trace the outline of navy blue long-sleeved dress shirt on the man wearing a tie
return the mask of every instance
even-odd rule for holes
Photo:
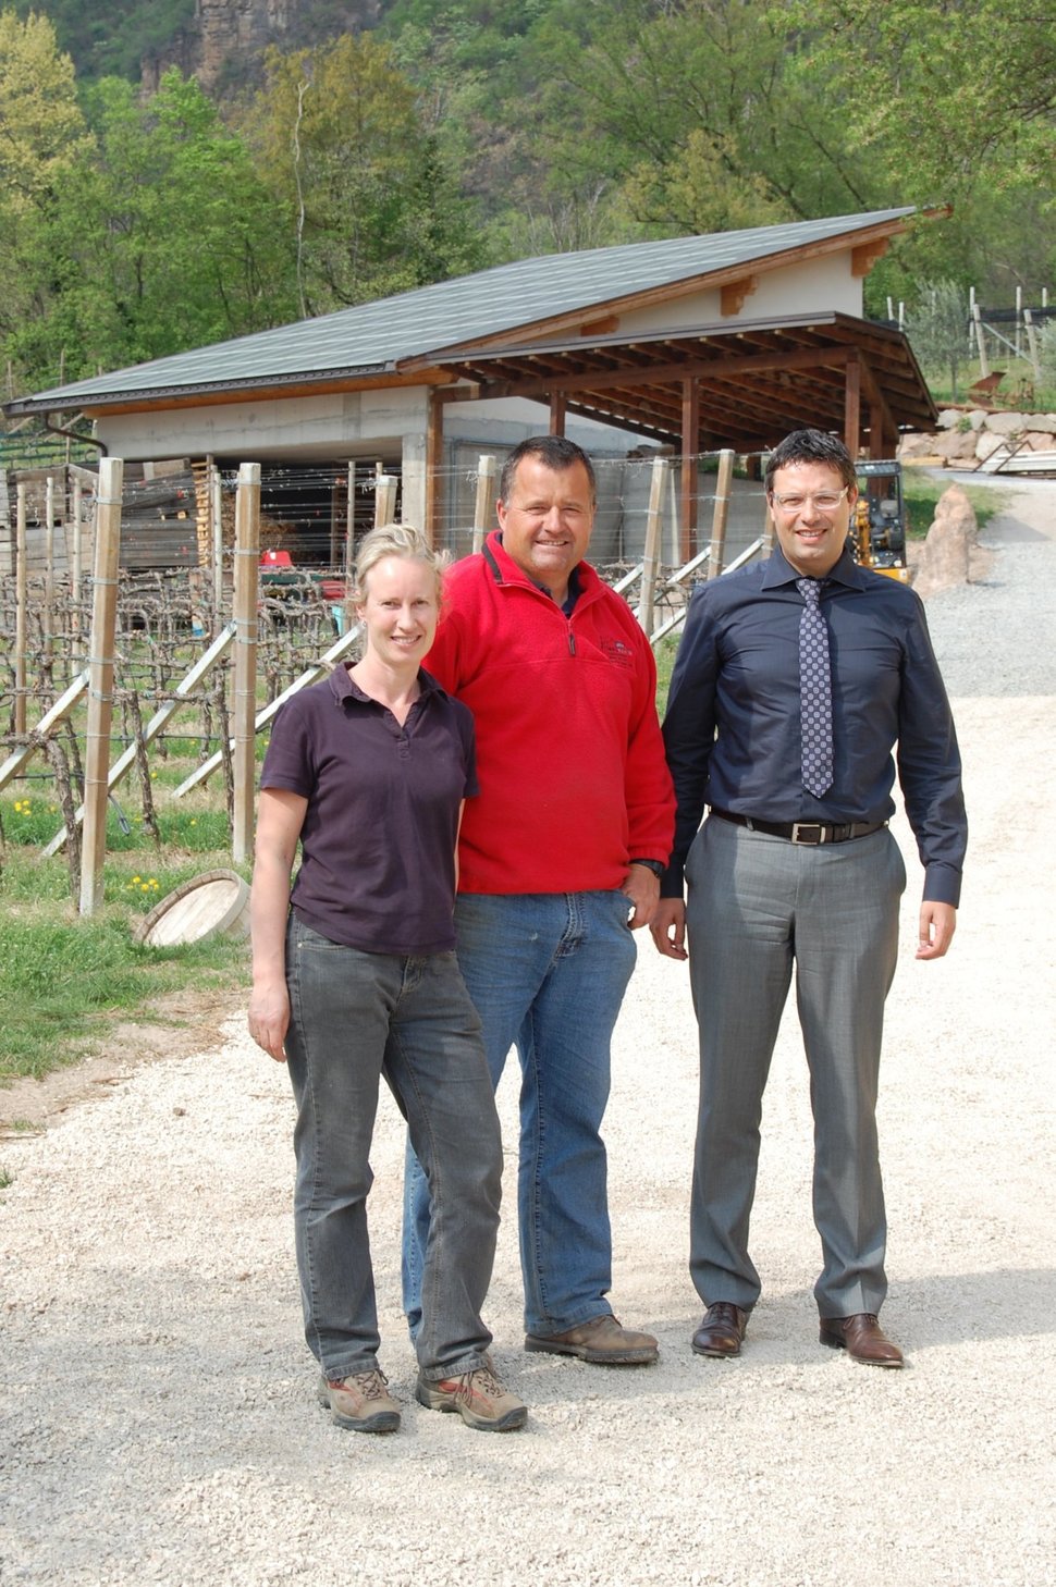
[[[897,755],[924,898],[956,905],[967,846],[961,755],[924,606],[848,551],[824,579],[835,768],[815,798],[800,773],[797,578],[778,549],[700,586],[689,603],[664,720],[678,814],[661,893],[681,897],[705,805],[757,820],[883,822],[896,808]]]

